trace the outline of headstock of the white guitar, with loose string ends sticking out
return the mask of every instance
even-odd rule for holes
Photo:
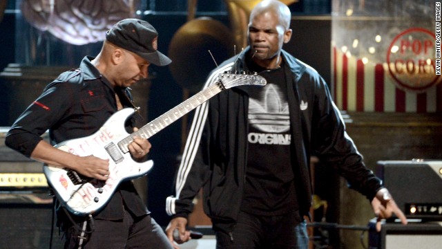
[[[265,86],[265,84],[267,84],[267,80],[256,73],[220,73],[218,77],[225,89],[229,89],[234,86]]]

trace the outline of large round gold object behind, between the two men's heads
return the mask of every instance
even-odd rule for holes
[[[173,35],[168,56],[175,82],[191,92],[200,91],[210,71],[233,56],[231,31],[209,17],[193,19]]]

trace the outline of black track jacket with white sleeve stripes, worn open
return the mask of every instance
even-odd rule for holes
[[[206,86],[218,80],[218,73],[247,72],[244,54],[248,51],[249,47],[239,58],[232,57],[216,68]],[[354,190],[373,199],[382,187],[381,180],[365,167],[363,157],[345,131],[327,84],[314,68],[285,50],[282,57],[289,68],[285,75],[294,162],[291,167],[301,216],[308,215],[311,206],[311,154],[345,177]],[[222,91],[196,109],[175,179],[175,196],[166,199],[169,215],[186,217],[193,210],[195,195],[204,187],[204,212],[214,225],[230,232],[240,211],[247,167],[249,87],[254,86]]]

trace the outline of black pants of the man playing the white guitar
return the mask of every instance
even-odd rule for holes
[[[79,223],[80,227],[84,224]],[[86,234],[87,239],[81,239],[82,234],[76,232],[74,227],[66,231],[65,249],[172,249],[172,245],[166,234],[150,215],[133,218],[129,212],[125,212],[122,221],[94,220],[94,230]],[[85,227],[90,229],[90,221]],[[79,246],[81,243],[81,246]]]

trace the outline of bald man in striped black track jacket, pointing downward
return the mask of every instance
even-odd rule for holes
[[[312,154],[367,196],[380,219],[394,212],[406,223],[381,180],[365,167],[326,82],[282,49],[292,36],[290,20],[280,1],[258,3],[250,15],[249,46],[209,76],[215,81],[222,71],[258,72],[267,85],[228,89],[197,109],[175,196],[166,200],[173,217],[166,228],[170,241],[175,229],[177,243],[189,240],[187,217],[203,187],[218,249],[307,249]]]

